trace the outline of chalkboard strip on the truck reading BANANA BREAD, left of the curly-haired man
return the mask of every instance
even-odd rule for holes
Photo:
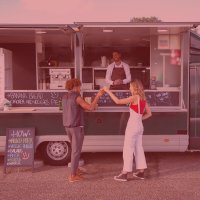
[[[13,107],[58,107],[64,92],[6,92]]]

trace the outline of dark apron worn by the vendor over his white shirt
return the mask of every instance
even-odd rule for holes
[[[122,65],[122,68],[116,68],[114,65],[112,75],[111,75],[111,80],[124,80],[126,79],[126,74],[124,71],[124,67]],[[122,84],[122,85],[110,85],[110,90],[128,90],[128,84]]]

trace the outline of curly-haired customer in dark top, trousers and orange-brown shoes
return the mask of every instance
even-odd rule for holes
[[[79,79],[68,80],[65,89],[68,90],[68,92],[62,98],[63,126],[65,127],[72,146],[71,175],[69,181],[74,182],[84,178],[83,176],[78,176],[83,173],[83,171],[78,168],[84,139],[83,109],[94,110],[99,97],[102,96],[104,92],[99,91],[94,101],[88,104],[80,96],[81,81]]]

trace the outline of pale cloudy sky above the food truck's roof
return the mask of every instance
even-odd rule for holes
[[[164,22],[200,22],[200,0],[0,0],[0,23],[129,22],[156,16]]]

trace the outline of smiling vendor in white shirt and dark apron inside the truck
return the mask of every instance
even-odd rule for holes
[[[129,65],[121,61],[119,51],[113,51],[114,62],[108,66],[106,82],[110,84],[110,90],[128,90],[131,82]]]

